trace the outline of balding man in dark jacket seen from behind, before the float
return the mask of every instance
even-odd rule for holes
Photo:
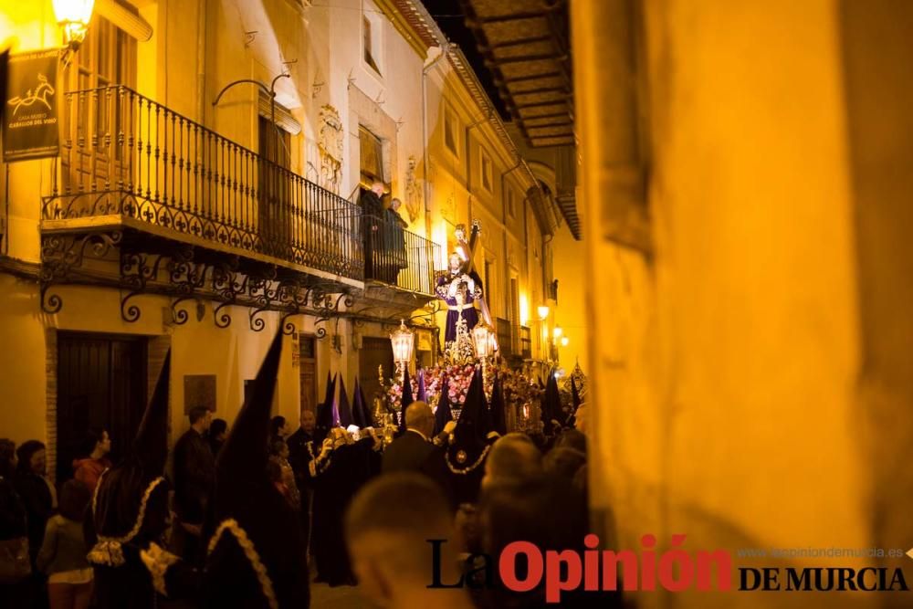
[[[405,409],[406,432],[383,451],[381,472],[412,471],[434,480],[447,498],[452,498],[444,449],[435,446],[431,436],[435,415],[425,402],[413,402]]]

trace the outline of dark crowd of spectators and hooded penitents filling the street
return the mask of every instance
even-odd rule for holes
[[[584,405],[548,433],[507,433],[478,372],[456,421],[446,399],[415,401],[378,429],[357,386],[350,406],[333,380],[292,431],[269,413],[280,349],[230,431],[192,408],[170,454],[166,359],[131,454],[110,463],[93,431],[59,493],[41,443],[0,440],[0,606],[307,607],[312,579],[390,607],[544,604],[476,562],[511,541],[582,550],[586,438],[567,422],[582,427]],[[428,587],[436,577],[462,585]]]

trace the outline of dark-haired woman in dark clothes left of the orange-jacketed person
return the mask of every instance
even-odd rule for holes
[[[23,442],[16,449],[18,466],[13,486],[23,505],[26,506],[26,519],[28,522],[28,552],[35,568],[35,559],[41,542],[45,539],[45,525],[47,519],[54,511],[56,492],[52,492],[51,484],[45,478],[46,452],[45,445],[37,440]]]

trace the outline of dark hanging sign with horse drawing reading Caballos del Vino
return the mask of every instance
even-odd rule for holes
[[[57,156],[58,49],[11,55],[3,109],[3,160]]]

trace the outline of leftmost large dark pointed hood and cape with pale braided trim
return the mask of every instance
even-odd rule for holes
[[[133,438],[130,456],[106,470],[92,499],[92,526],[98,542],[89,550],[92,564],[119,567],[125,547],[158,540],[167,528],[168,389],[171,352],[165,354],[152,399]]]

